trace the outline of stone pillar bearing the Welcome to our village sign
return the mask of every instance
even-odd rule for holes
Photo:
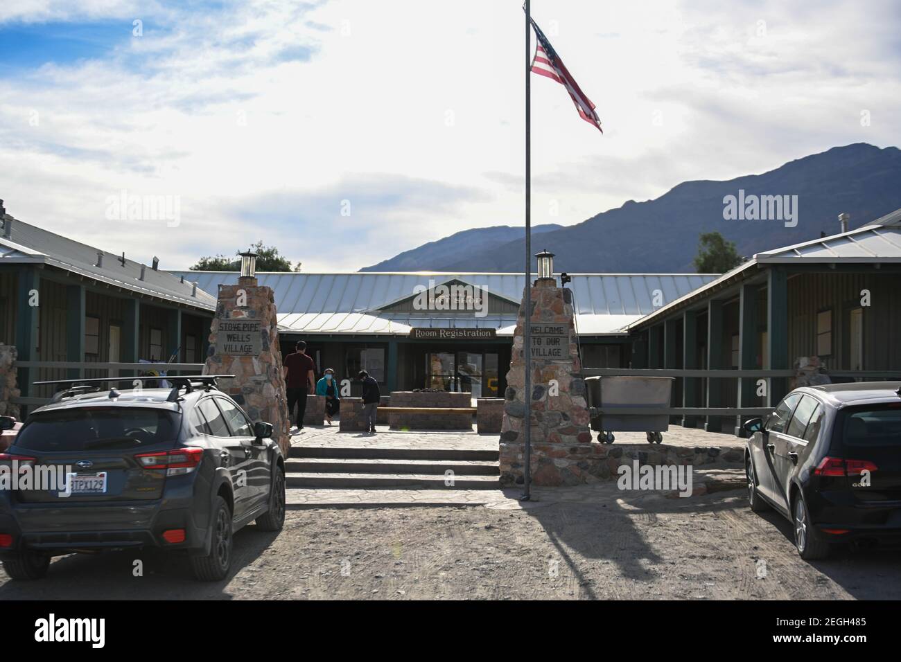
[[[557,286],[529,287],[532,314],[532,482],[577,485],[600,476],[605,467],[601,444],[591,440],[585,382],[578,358],[572,293]],[[523,296],[524,302],[525,296]],[[525,358],[523,305],[514,331],[507,373],[500,470],[503,485],[523,483]],[[604,465],[604,469],[602,469]]]

